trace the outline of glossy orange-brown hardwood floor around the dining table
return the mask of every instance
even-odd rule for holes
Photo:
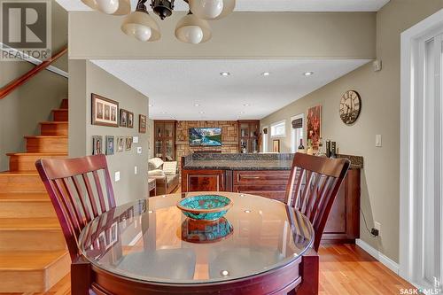
[[[414,288],[357,245],[322,245],[319,252],[319,295],[399,295],[400,288]],[[46,293],[0,293],[43,294],[70,294],[69,276]]]

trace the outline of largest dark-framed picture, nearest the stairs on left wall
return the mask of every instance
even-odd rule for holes
[[[91,103],[92,125],[119,127],[117,120],[118,102],[92,93]]]

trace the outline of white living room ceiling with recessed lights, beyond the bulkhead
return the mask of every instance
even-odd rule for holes
[[[261,119],[369,60],[92,60],[150,97],[150,118]],[[303,73],[315,74],[306,77]],[[229,72],[230,76],[221,76]],[[262,73],[270,72],[263,76]],[[198,106],[195,106],[198,104]]]

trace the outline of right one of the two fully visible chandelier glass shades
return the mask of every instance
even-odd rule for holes
[[[180,19],[175,27],[175,37],[184,43],[205,43],[211,39],[212,34],[207,21],[198,19],[192,13]]]

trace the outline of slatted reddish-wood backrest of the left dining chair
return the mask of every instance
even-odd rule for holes
[[[35,167],[48,190],[74,261],[79,257],[77,241],[82,229],[99,214],[115,207],[105,155],[39,159]]]

